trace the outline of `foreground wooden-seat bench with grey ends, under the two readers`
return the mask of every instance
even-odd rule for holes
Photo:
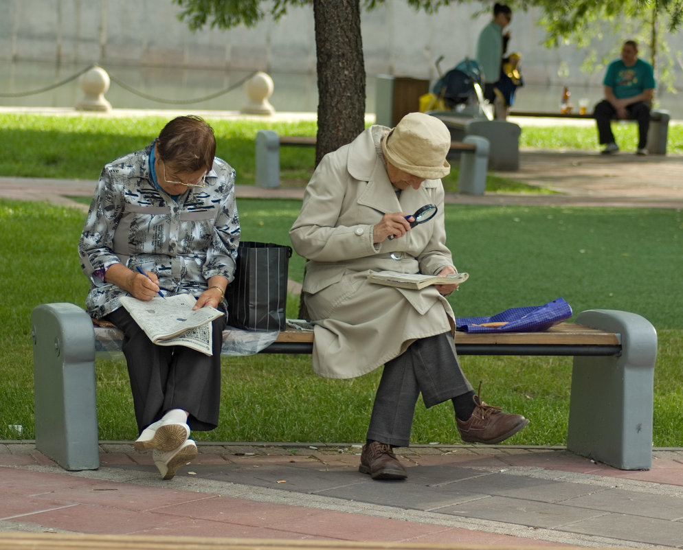
[[[73,303],[32,312],[36,448],[66,470],[100,465],[95,358],[103,333]],[[652,461],[657,333],[647,319],[587,310],[544,332],[456,333],[460,355],[573,356],[568,450],[622,470]],[[313,332],[286,330],[261,353],[309,354]]]

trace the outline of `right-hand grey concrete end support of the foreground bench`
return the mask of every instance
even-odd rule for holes
[[[622,470],[649,470],[657,333],[623,311],[588,310],[576,323],[621,334],[622,353],[574,358],[567,448]]]

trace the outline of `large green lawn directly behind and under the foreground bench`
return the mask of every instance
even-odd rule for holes
[[[297,200],[240,200],[245,240],[287,244]],[[87,280],[76,243],[85,214],[43,203],[0,200],[0,439],[10,424],[34,437],[30,314],[46,302],[82,306]],[[680,211],[568,207],[446,206],[449,247],[470,279],[449,298],[459,316],[566,299],[574,312],[612,308],[642,314],[658,330],[654,445],[680,446],[683,424],[683,320]],[[301,281],[294,255],[290,275]],[[291,296],[289,317],[298,298]],[[310,356],[223,358],[220,426],[194,433],[211,441],[362,442],[379,369],[352,380],[311,371]],[[531,423],[511,444],[566,443],[571,359],[463,357],[484,400],[523,413]],[[100,439],[136,436],[123,360],[98,360]],[[458,443],[452,407],[418,404],[415,443]]]

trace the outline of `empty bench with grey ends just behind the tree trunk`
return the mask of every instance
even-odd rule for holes
[[[280,147],[313,147],[313,136],[278,135],[275,130],[256,133],[256,186],[280,187]],[[489,163],[489,141],[471,136],[463,141],[451,141],[451,151],[461,152],[458,191],[483,195],[486,190],[486,170]]]

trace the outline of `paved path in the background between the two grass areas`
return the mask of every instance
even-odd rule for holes
[[[637,157],[622,152],[524,150],[515,172],[495,172],[555,194],[451,193],[446,200],[473,205],[558,205],[683,208],[683,155]],[[74,205],[68,196],[92,196],[95,181],[0,177],[0,197]],[[238,198],[302,198],[302,189],[238,185]],[[82,205],[80,207],[84,208]]]

